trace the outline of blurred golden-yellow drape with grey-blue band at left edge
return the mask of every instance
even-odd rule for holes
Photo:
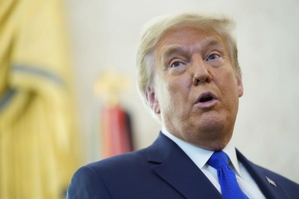
[[[0,0],[0,198],[60,199],[80,164],[61,0]]]

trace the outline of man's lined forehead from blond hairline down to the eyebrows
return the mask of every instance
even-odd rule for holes
[[[156,45],[156,55],[161,57],[177,50],[192,52],[216,45],[224,47],[224,42],[212,28],[203,30],[197,27],[178,27],[161,36]]]

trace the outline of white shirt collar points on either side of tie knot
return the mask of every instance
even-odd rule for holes
[[[162,127],[162,133],[168,138],[170,138],[173,142],[175,142],[187,154],[187,156],[190,157],[190,159],[196,164],[196,166],[198,166],[199,169],[202,169],[203,166],[205,166],[205,164],[210,159],[211,155],[214,153],[214,151],[209,151],[209,150],[199,148],[184,140],[179,139],[178,137],[169,133],[164,126]],[[232,138],[225,146],[225,148],[222,149],[222,151],[228,155],[237,173],[242,178],[239,164],[238,164],[236,149],[234,146],[234,141]]]

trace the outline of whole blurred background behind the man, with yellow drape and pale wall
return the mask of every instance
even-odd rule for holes
[[[135,85],[139,32],[184,11],[236,22],[236,147],[299,183],[299,1],[0,0],[0,198],[65,198],[86,163],[161,130]]]

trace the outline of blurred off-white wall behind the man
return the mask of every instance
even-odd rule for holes
[[[67,0],[73,42],[80,128],[86,163],[100,158],[97,147],[100,102],[96,75],[116,68],[135,82],[140,27],[162,14],[217,11],[236,21],[244,95],[234,130],[236,147],[252,160],[299,183],[299,1],[100,1]],[[150,145],[160,130],[146,113],[136,86],[123,95],[132,115],[135,146]]]

